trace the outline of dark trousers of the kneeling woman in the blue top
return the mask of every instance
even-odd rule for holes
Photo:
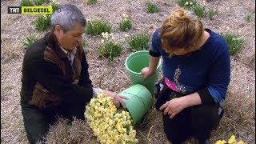
[[[156,84],[155,96],[157,102],[156,109],[159,110],[166,101],[172,98],[179,98],[186,94],[178,94],[166,85],[158,89],[159,83]],[[174,118],[170,115],[162,114],[164,132],[168,140],[174,144],[186,141],[186,138],[194,137],[199,141],[206,141],[210,138],[212,130],[218,127],[218,123],[223,115],[222,106],[219,103],[202,104],[198,106],[190,106],[176,114]]]

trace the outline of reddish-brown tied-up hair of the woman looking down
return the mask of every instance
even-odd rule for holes
[[[162,24],[160,38],[165,50],[193,49],[203,34],[202,22],[188,10],[177,8]]]

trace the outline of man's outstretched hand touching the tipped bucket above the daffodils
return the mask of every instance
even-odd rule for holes
[[[126,108],[126,105],[123,102],[123,99],[128,99],[128,98],[109,90],[103,90],[103,93],[106,94],[107,96],[110,96],[113,99],[114,106],[117,106],[117,108],[120,107],[120,104],[122,105],[123,108]]]

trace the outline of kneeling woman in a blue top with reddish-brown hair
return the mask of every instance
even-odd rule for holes
[[[154,32],[144,78],[154,73],[161,56],[163,78],[155,85],[155,106],[162,110],[166,137],[174,144],[189,137],[209,143],[230,82],[229,46],[194,14],[178,8]]]

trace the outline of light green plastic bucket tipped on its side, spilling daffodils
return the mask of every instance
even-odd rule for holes
[[[130,86],[128,89],[122,90],[119,94],[128,98],[124,102],[133,118],[134,125],[142,119],[153,105],[153,98],[150,91],[145,86],[139,84]]]

